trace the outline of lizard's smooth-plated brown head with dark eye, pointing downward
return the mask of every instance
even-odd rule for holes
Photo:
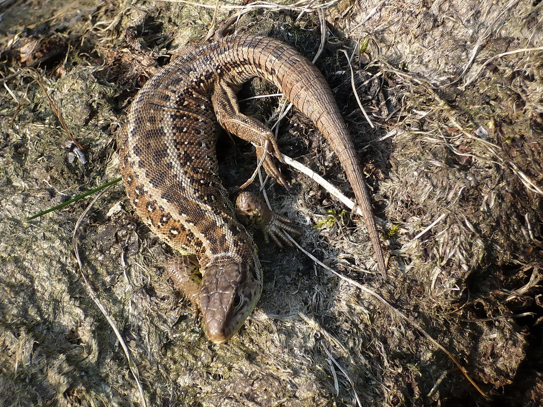
[[[202,273],[200,309],[208,338],[224,344],[243,325],[262,292],[258,260],[207,265]]]

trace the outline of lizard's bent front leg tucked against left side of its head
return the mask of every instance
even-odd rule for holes
[[[198,275],[199,265],[196,256],[179,256],[166,265],[175,286],[185,293],[191,302],[194,320],[198,319],[199,296],[202,279]]]

